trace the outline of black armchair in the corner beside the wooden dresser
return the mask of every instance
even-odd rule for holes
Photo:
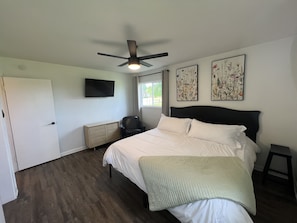
[[[138,116],[127,116],[122,119],[120,125],[121,135],[123,138],[132,136],[145,131]]]

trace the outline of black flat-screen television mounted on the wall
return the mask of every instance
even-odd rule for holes
[[[85,79],[85,97],[113,97],[114,81]]]

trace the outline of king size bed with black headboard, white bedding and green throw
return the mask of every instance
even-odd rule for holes
[[[112,166],[183,223],[252,222],[259,111],[171,107],[158,126],[111,144]],[[111,171],[111,169],[110,169]]]

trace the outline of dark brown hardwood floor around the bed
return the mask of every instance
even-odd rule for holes
[[[142,191],[121,174],[102,167],[104,148],[85,150],[16,174],[19,196],[4,205],[6,223],[178,223],[168,211],[143,207]],[[286,185],[255,172],[254,222],[297,222],[297,205]]]

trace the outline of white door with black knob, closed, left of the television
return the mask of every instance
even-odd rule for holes
[[[3,80],[19,170],[59,158],[51,81]]]

